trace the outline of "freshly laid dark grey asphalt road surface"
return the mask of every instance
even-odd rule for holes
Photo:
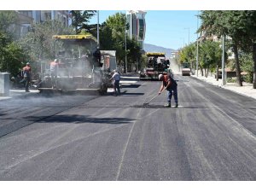
[[[143,106],[160,82],[132,77],[122,96],[1,101],[0,180],[255,181],[256,101],[175,78],[179,108]]]

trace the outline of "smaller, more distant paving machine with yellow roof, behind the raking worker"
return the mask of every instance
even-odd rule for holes
[[[148,52],[146,55],[147,66],[139,72],[139,79],[158,80],[160,74],[167,73],[170,61],[166,60],[165,53]]]

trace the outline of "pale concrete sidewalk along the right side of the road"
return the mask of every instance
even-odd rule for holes
[[[200,79],[202,81],[207,82],[208,84],[213,84],[218,87],[224,88],[226,90],[234,91],[243,96],[249,96],[249,97],[252,97],[253,99],[256,99],[256,89],[253,89],[253,84],[248,84],[248,83],[242,82],[243,86],[238,86],[236,83],[227,83],[227,84],[223,85],[222,79],[218,79],[218,81],[217,81],[212,76],[208,76],[206,78],[206,77],[201,76],[201,74],[199,74],[198,77],[196,77],[196,75],[191,75],[191,77]]]

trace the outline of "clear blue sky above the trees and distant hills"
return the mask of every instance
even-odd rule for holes
[[[109,15],[123,10],[100,10],[99,22],[108,19]],[[197,30],[197,10],[150,10],[146,14],[146,44],[154,44],[165,48],[178,49],[183,44],[195,42]],[[95,15],[90,23],[96,23]],[[198,21],[200,26],[200,20]]]

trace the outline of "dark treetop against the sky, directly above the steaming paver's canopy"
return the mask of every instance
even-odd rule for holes
[[[72,26],[74,27],[76,34],[81,32],[82,29],[91,33],[94,28],[95,31],[95,26],[90,26],[88,24],[90,18],[96,14],[95,10],[72,10],[70,13],[72,14]]]

